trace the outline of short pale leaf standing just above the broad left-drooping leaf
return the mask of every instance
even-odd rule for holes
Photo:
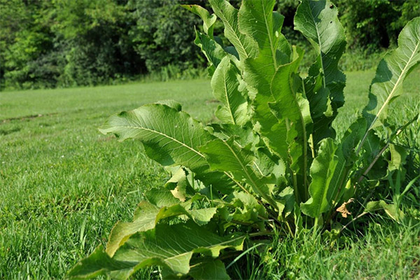
[[[214,97],[223,104],[216,111],[216,116],[223,123],[244,125],[248,121],[248,102],[239,91],[239,79],[236,66],[229,57],[223,58],[211,79]]]

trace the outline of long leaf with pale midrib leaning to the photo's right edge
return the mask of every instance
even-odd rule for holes
[[[363,111],[371,130],[386,118],[386,108],[402,92],[402,82],[407,74],[420,62],[420,17],[414,18],[398,36],[398,48],[388,52],[379,62],[376,76],[372,80],[369,103]],[[367,137],[363,137],[362,144]]]

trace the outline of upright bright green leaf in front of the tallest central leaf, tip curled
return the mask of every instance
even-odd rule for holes
[[[312,120],[309,102],[306,97],[297,92],[302,85],[301,79],[294,74],[302,59],[303,51],[293,47],[293,52],[297,58],[293,62],[279,66],[272,80],[271,92],[274,102],[269,102],[268,105],[277,119],[275,129],[261,123],[261,132],[267,132],[266,135],[274,131],[277,133],[279,139],[269,141],[269,147],[283,158],[288,159],[290,169],[297,181],[295,188],[299,187],[295,189],[297,202],[301,202],[307,199],[307,187],[309,186],[307,143]],[[280,140],[281,137],[283,137],[283,141]]]

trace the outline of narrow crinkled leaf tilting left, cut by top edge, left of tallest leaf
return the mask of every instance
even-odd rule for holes
[[[239,58],[242,60],[247,57],[254,57],[258,48],[252,38],[239,31],[238,10],[225,0],[210,0],[210,4],[214,13],[223,21],[225,37],[235,46]]]

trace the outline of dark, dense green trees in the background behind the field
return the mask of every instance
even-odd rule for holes
[[[239,6],[239,1],[231,2]],[[302,34],[293,30],[298,0],[276,2],[275,10],[286,17],[283,34],[309,52]],[[190,45],[194,34],[189,32],[201,27],[180,3],[208,5],[204,0],[0,0],[0,84],[95,85],[146,73],[163,72],[165,78],[201,69],[204,59]],[[334,3],[349,48],[358,54],[363,48],[360,57],[395,45],[399,31],[419,10],[416,0]],[[309,66],[307,57],[304,65]]]

